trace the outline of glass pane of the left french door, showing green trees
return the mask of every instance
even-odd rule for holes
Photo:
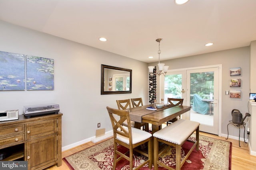
[[[164,77],[164,103],[167,98],[182,98],[182,74],[171,74]]]

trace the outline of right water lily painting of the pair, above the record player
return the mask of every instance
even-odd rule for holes
[[[54,59],[26,56],[27,90],[54,90]]]

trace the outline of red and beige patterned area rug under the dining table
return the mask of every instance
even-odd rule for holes
[[[190,137],[190,140],[196,141],[195,134]],[[190,142],[185,142],[182,145],[182,159],[191,145],[192,143]],[[118,147],[123,152],[127,151],[122,146]],[[112,170],[113,152],[114,145],[112,138],[67,156],[63,160],[71,170]],[[199,151],[195,149],[192,151],[182,166],[182,170],[231,170],[231,152],[232,143],[199,135]],[[135,166],[138,166],[146,159],[146,157],[137,153],[134,153],[133,158]],[[171,147],[168,152],[162,155],[160,160],[168,164],[168,166],[175,168],[175,147]],[[152,170],[154,169],[153,167]],[[117,162],[116,170],[128,169],[130,169],[129,162],[124,158]],[[148,164],[140,169],[148,170]],[[166,170],[162,166],[159,166],[158,169]]]

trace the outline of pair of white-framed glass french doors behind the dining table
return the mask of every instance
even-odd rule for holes
[[[219,127],[219,67],[187,68],[179,71],[169,70],[162,76],[160,96],[167,103],[167,98],[183,98],[183,105],[191,106],[190,112],[182,119],[198,121],[200,131],[218,135]]]

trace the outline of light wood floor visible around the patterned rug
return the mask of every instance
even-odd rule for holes
[[[209,133],[200,132],[201,135],[226,140],[224,137],[219,137],[217,135],[212,135]],[[247,147],[247,143],[243,143],[240,141],[240,146],[237,140],[228,139],[226,141],[232,142],[232,159],[231,159],[231,169],[232,170],[256,170],[256,156],[250,156],[249,149]],[[84,145],[80,145],[70,150],[66,150],[62,152],[62,158],[79,152],[80,150],[84,150],[88,147],[96,145],[92,142],[85,143]],[[62,166],[57,167],[56,165],[47,168],[46,170],[68,170],[68,166],[62,160]]]

